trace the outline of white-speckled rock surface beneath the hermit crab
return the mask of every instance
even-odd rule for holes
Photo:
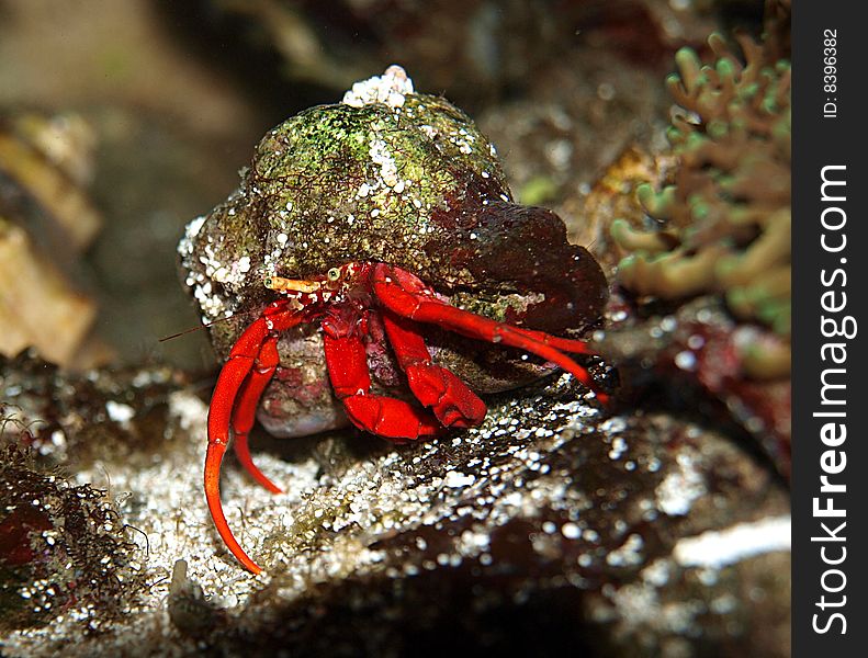
[[[100,636],[67,615],[5,635],[5,655],[788,655],[786,488],[711,430],[604,416],[561,376],[422,445],[272,442],[258,462],[285,494],[224,476],[230,523],[266,568],[252,577],[201,500],[205,406],[165,386],[149,440],[71,476],[110,485],[121,521],[147,536],[131,534],[149,587]],[[125,399],[138,427],[148,405]]]

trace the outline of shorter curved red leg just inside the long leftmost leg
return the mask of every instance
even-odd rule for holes
[[[247,375],[241,390],[238,394],[238,401],[235,405],[233,415],[233,447],[238,461],[253,476],[253,479],[262,485],[272,494],[280,494],[281,489],[263,474],[250,456],[250,449],[247,444],[247,436],[250,433],[256,420],[256,409],[259,406],[259,398],[262,392],[271,382],[274,371],[278,368],[280,358],[278,356],[278,338],[270,336],[262,344],[250,374]]]

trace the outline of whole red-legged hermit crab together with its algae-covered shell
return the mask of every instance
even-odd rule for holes
[[[478,424],[477,393],[555,366],[606,399],[566,355],[591,353],[577,337],[607,298],[599,265],[552,212],[512,203],[474,123],[414,92],[399,67],[268,133],[239,190],[190,223],[179,252],[226,361],[205,496],[253,572],[223,513],[219,469],[233,434],[245,468],[280,491],[250,458],[257,415],[275,435],[349,422],[403,443]]]

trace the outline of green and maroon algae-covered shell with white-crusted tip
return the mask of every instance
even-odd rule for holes
[[[595,322],[607,296],[599,265],[567,242],[554,213],[512,203],[473,121],[414,92],[399,67],[270,131],[240,188],[188,226],[179,251],[205,321],[272,300],[266,276],[306,277],[349,261],[398,265],[455,306],[559,334]],[[251,320],[211,328],[221,358]],[[315,359],[324,373],[314,333],[282,340],[282,367]],[[482,390],[509,387],[471,378]]]

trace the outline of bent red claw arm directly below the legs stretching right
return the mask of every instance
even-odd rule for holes
[[[454,374],[435,365],[415,324],[390,310],[382,317],[388,342],[416,398],[446,427],[480,424],[487,411],[485,402]]]

